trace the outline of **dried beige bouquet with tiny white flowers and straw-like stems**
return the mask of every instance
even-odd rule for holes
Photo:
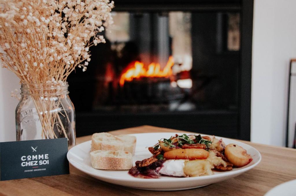
[[[112,23],[109,0],[0,0],[0,64],[25,83],[42,126],[42,138],[64,132],[57,88],[76,68],[86,70],[89,47],[104,43],[98,35]],[[37,89],[38,84],[49,88]]]

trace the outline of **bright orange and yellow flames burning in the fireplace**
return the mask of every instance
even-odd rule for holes
[[[132,68],[121,75],[119,84],[123,86],[125,81],[132,81],[134,78],[140,77],[169,77],[173,74],[173,65],[174,59],[172,56],[168,58],[168,62],[163,70],[160,70],[159,63],[151,63],[146,70],[143,63],[136,61]]]

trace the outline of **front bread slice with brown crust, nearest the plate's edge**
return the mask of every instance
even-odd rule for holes
[[[125,170],[133,167],[131,153],[123,150],[95,150],[90,154],[94,169]]]

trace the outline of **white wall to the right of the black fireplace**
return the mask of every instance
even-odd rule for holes
[[[251,141],[284,145],[289,60],[296,58],[296,1],[255,0]]]

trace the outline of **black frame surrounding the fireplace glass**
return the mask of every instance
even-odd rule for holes
[[[131,12],[166,12],[166,11],[191,11],[191,12],[240,12],[240,30],[241,30],[241,46],[239,53],[239,92],[238,92],[238,114],[237,114],[237,122],[228,122],[231,124],[232,128],[237,129],[237,132],[229,132],[225,137],[235,137],[241,140],[249,140],[250,141],[250,116],[251,116],[251,72],[252,72],[252,26],[253,26],[253,0],[141,0],[132,1],[132,0],[116,0],[115,8],[113,11],[131,11]],[[161,119],[162,115],[166,115],[167,118],[176,118],[176,116],[186,115],[191,116],[191,120],[196,120],[198,122],[202,122],[203,116],[206,115],[215,115],[213,122],[212,119],[210,121],[215,124],[218,123],[217,126],[223,126],[223,120],[226,121],[227,116],[233,116],[233,114],[228,113],[227,111],[222,112],[219,116],[218,113],[201,113],[201,114],[191,114],[190,112],[186,114],[178,114],[178,113],[162,113],[162,114],[135,114],[135,122],[134,124],[124,124],[124,125],[116,125],[112,124],[109,128],[108,124],[105,124],[101,127],[102,130],[96,130],[94,127],[99,123],[96,118],[101,118],[100,121],[104,122],[105,120],[110,120],[109,115],[99,114],[98,112],[79,112],[76,113],[77,117],[77,129],[84,129],[84,132],[77,132],[77,136],[89,135],[93,132],[101,132],[101,131],[110,131],[109,129],[119,129],[126,128],[131,126],[139,126],[144,124],[149,124],[153,126],[162,126]],[[195,117],[192,117],[194,116]],[[235,114],[236,115],[236,114]],[[99,117],[98,117],[99,116]],[[221,116],[223,116],[221,118]],[[225,116],[225,117],[224,117]],[[120,121],[124,121],[124,119],[130,119],[131,116],[128,114],[112,114],[111,121],[116,121],[120,119]],[[150,120],[145,121],[148,118]],[[136,120],[137,119],[137,120]],[[159,120],[160,119],[160,120]],[[184,118],[185,119],[185,118]],[[218,120],[217,120],[218,119]],[[209,119],[206,119],[209,121]],[[186,120],[185,120],[186,121]],[[187,120],[190,121],[190,120]],[[84,123],[82,123],[84,122]],[[89,124],[87,124],[88,122]],[[91,123],[90,123],[91,122]],[[210,122],[210,123],[211,123]],[[186,122],[182,122],[186,123]],[[187,122],[188,123],[188,122]],[[224,123],[225,124],[225,123]],[[175,129],[182,129],[181,125],[178,122],[175,122]],[[227,125],[228,126],[228,125]],[[224,131],[227,131],[227,126],[224,127]],[[204,127],[204,130],[206,128]],[[190,130],[186,130],[190,131]],[[213,132],[211,134],[219,135],[219,132]],[[234,136],[235,134],[235,136]],[[220,134],[221,135],[221,134]]]

